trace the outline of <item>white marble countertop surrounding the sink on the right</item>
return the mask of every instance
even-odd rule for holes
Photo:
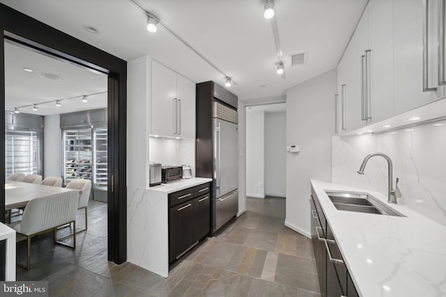
[[[387,197],[311,180],[360,296],[446,296],[446,227]],[[406,217],[340,211],[325,193],[369,193]]]

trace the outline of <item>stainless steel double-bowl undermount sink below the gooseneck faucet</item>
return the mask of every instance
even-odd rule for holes
[[[399,214],[399,212],[387,207],[371,195],[334,191],[325,191],[325,193],[332,200],[334,207],[339,210],[387,216],[403,216],[403,214]]]

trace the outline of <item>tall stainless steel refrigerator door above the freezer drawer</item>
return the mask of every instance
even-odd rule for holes
[[[219,198],[238,188],[238,125],[215,119],[215,141],[215,198]]]

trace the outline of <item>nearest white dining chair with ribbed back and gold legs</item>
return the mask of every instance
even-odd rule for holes
[[[42,232],[53,231],[53,240],[69,248],[76,248],[76,211],[78,204],[78,193],[69,191],[35,198],[26,204],[23,211],[22,221],[13,223],[10,227],[18,233],[26,236],[27,254],[26,265],[17,262],[20,267],[29,270],[31,262],[31,237]],[[73,223],[72,246],[57,238],[57,227]],[[67,236],[63,236],[66,238]]]

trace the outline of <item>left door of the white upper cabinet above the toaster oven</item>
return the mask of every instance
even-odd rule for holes
[[[176,134],[176,73],[152,62],[151,134]]]

